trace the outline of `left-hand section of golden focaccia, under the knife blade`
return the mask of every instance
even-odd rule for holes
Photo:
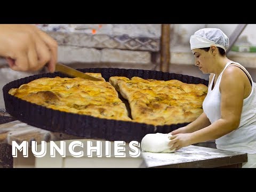
[[[101,74],[86,74],[102,78]],[[102,81],[90,81],[79,77],[45,77],[11,89],[9,93],[55,110],[131,121],[118,92],[104,78]]]

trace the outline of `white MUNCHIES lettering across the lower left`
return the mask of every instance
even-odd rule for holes
[[[114,142],[114,143],[113,143]],[[60,147],[54,142],[50,141],[50,156],[55,157],[56,151],[62,156],[66,157],[66,147],[68,147],[68,151],[71,156],[73,157],[83,157],[86,153],[87,157],[93,157],[93,153],[97,157],[102,157],[102,151],[105,151],[103,153],[104,157],[111,157],[111,155],[114,155],[114,157],[126,157],[126,149],[125,147],[128,147],[125,145],[125,141],[96,141],[96,145],[93,146],[92,141],[86,141],[86,151],[84,153],[84,143],[82,141],[72,141],[69,143],[68,146],[66,146],[66,141],[59,141]],[[103,146],[102,150],[102,143],[105,144]],[[114,145],[114,146],[111,146]],[[111,149],[114,150],[111,151]],[[75,150],[76,148],[76,150]],[[22,143],[19,145],[16,141],[12,141],[12,156],[17,157],[17,149],[19,151],[22,151],[23,157],[28,157],[28,141],[22,141]],[[138,141],[131,141],[129,143],[129,155],[131,157],[139,157],[140,156],[140,143]],[[46,151],[46,141],[41,141],[41,150],[37,150],[37,142],[31,141],[31,151],[35,157],[44,157],[46,155],[46,152],[49,153],[49,151]],[[112,152],[112,153],[111,153]],[[126,151],[127,152],[127,151]]]

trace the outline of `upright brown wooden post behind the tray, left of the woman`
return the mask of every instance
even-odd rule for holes
[[[169,72],[170,65],[170,24],[162,24],[161,26],[161,61],[160,69],[163,72]]]

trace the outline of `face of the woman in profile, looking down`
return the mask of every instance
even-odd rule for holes
[[[203,49],[194,49],[192,53],[195,57],[195,66],[198,66],[204,74],[209,73],[209,67],[211,66],[212,55],[210,51],[204,51]]]

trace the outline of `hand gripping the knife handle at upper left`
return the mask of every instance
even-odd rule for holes
[[[57,62],[57,42],[34,25],[0,25],[0,55],[10,68],[36,71],[47,64],[50,72]]]

